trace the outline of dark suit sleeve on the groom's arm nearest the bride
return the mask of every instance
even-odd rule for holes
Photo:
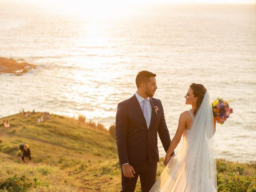
[[[171,143],[171,139],[170,139],[169,130],[166,125],[166,121],[165,121],[165,117],[164,117],[164,108],[162,106],[161,101],[160,101],[160,104],[161,104],[161,108],[162,108],[162,114],[161,114],[161,119],[160,119],[159,126],[158,126],[158,135],[163,144],[165,152],[167,152],[167,150],[170,146],[170,143]],[[174,152],[172,153],[172,155],[173,154],[174,154]]]

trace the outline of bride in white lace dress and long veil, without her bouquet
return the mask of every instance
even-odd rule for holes
[[[191,84],[185,96],[192,105],[180,114],[178,128],[164,164],[166,168],[150,192],[217,192],[213,119],[210,95],[202,84]],[[171,157],[183,135],[180,152]]]

